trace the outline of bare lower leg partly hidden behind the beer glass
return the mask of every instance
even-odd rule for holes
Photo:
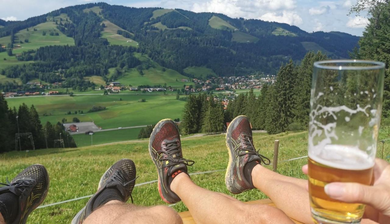
[[[303,223],[313,223],[307,180],[283,176],[257,165],[252,170],[252,181],[289,217]]]

